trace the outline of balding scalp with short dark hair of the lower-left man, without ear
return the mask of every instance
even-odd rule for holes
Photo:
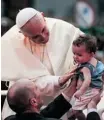
[[[31,108],[30,100],[37,97],[36,87],[33,82],[21,80],[16,82],[7,93],[10,108],[16,113],[22,113]]]

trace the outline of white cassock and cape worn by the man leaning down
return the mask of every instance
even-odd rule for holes
[[[43,63],[24,45],[24,35],[13,26],[1,40],[1,79],[10,85],[19,79],[34,80],[47,96],[54,96],[60,89],[58,79],[73,66],[72,42],[83,34],[78,28],[62,20],[46,18],[50,37],[45,46]],[[41,49],[41,48],[40,48]],[[4,103],[2,118],[13,114]]]

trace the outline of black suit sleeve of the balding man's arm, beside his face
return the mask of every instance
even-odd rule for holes
[[[45,109],[41,111],[44,117],[61,118],[70,108],[71,104],[66,101],[63,95],[59,95]]]

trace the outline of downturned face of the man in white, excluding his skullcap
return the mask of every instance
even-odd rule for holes
[[[36,16],[35,16],[36,17]],[[30,19],[22,28],[22,32],[37,44],[45,44],[49,40],[49,30],[44,17]]]

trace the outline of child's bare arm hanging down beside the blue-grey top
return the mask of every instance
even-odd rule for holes
[[[74,94],[76,98],[79,99],[79,97],[88,89],[90,83],[91,83],[91,73],[90,70],[87,67],[84,67],[81,69],[81,72],[84,76],[84,81],[82,83],[82,86],[80,89]]]

